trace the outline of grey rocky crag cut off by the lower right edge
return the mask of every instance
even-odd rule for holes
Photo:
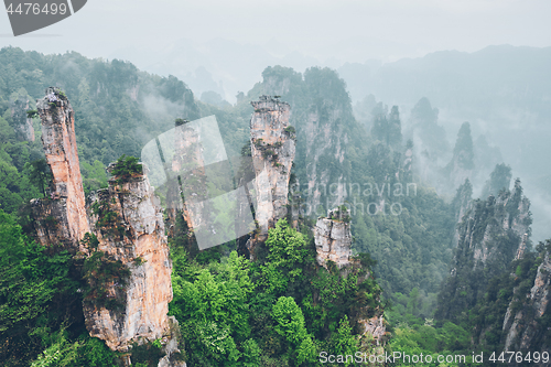
[[[551,258],[545,252],[543,262],[538,267],[533,287],[520,311],[507,309],[504,320],[505,350],[549,350],[551,337],[549,327],[542,322],[549,319],[551,307]],[[543,366],[543,364],[540,364]]]

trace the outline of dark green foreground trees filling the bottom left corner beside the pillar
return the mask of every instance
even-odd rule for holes
[[[0,211],[3,366],[114,366],[115,354],[104,342],[87,336],[82,284],[75,273],[68,252],[29,240],[14,219]]]

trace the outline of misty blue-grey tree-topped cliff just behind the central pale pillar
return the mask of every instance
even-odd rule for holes
[[[268,67],[262,76],[260,93],[281,95],[293,106],[290,122],[296,128],[295,163],[305,168],[296,172],[304,199],[300,214],[325,215],[347,197],[345,154],[353,139],[361,139],[345,83],[334,71],[316,67],[303,75],[291,68]]]

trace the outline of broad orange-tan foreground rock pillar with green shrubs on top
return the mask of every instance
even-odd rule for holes
[[[93,197],[89,216],[99,241],[97,250],[130,270],[126,285],[114,282],[108,289],[121,307],[108,310],[85,302],[90,335],[119,352],[129,350],[132,343],[159,338],[165,346],[172,345],[165,350],[169,356],[179,352],[177,342],[170,343],[175,320],[166,315],[172,301],[172,265],[161,206],[148,177],[134,174],[120,185],[114,177],[108,188]]]

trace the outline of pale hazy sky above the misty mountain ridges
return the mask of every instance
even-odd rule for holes
[[[490,44],[550,46],[550,15],[549,0],[89,0],[73,17],[19,37],[0,12],[0,46],[109,57],[126,46],[161,52],[181,39],[223,37],[274,55],[393,61]]]

